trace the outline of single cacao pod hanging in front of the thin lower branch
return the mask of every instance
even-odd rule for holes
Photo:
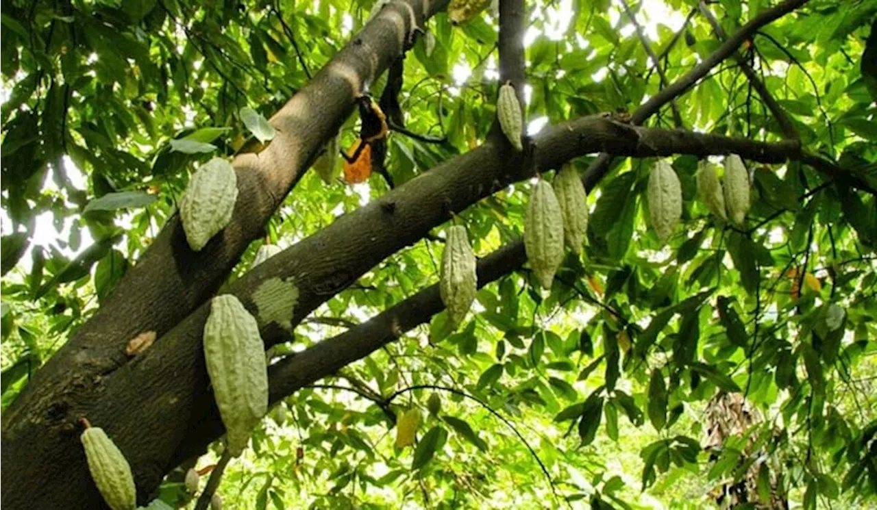
[[[463,225],[451,225],[447,229],[439,274],[439,295],[447,308],[448,319],[456,329],[466,318],[478,292],[475,254]]]

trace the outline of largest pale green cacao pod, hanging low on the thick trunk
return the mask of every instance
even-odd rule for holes
[[[267,413],[268,380],[259,324],[232,294],[210,303],[204,324],[204,360],[232,457],[246,448]]]

